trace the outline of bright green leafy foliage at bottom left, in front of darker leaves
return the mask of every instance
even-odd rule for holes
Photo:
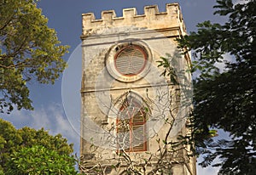
[[[78,174],[74,168],[75,160],[68,155],[59,155],[55,150],[34,145],[24,147],[10,155],[6,175],[37,174]]]

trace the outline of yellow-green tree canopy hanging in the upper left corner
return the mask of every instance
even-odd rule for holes
[[[34,0],[0,0],[0,112],[32,110],[26,82],[54,83],[66,63],[54,29]]]

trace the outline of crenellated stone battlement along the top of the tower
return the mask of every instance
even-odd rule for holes
[[[178,3],[166,4],[166,12],[159,12],[157,5],[144,7],[144,14],[137,14],[136,8],[124,8],[123,16],[117,17],[114,10],[102,11],[102,19],[96,20],[93,13],[82,14],[83,34],[82,37],[89,37],[91,33],[96,34],[97,30],[109,26],[132,25],[139,28],[162,30],[179,27],[179,35],[186,32],[183,23],[183,15]],[[166,22],[167,21],[167,22]]]

